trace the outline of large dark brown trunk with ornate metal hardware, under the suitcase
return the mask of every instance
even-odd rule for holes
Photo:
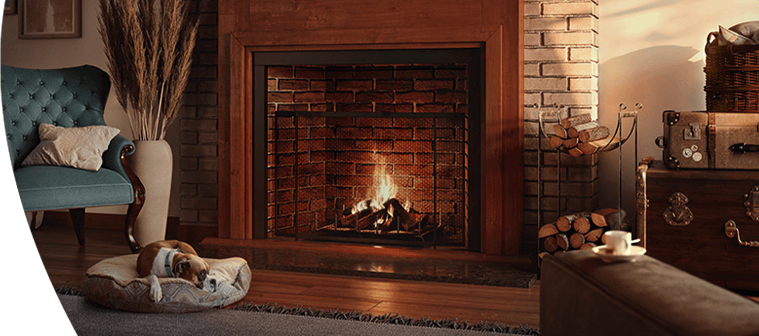
[[[647,255],[723,287],[759,290],[759,171],[641,163],[637,236]]]

